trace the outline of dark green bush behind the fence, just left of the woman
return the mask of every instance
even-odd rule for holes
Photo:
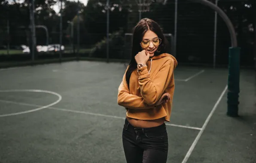
[[[124,33],[122,30],[110,34],[109,37],[109,55],[110,58],[123,58]],[[95,44],[91,49],[89,57],[107,57],[107,38]]]

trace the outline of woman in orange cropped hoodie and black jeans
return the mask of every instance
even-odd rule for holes
[[[159,25],[144,18],[134,27],[132,59],[118,89],[127,110],[122,141],[127,163],[166,163],[177,60],[166,53]]]

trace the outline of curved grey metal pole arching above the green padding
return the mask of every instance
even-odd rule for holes
[[[211,3],[208,0],[192,0],[192,1],[204,4],[205,6],[209,6],[210,8],[214,9],[219,14],[220,17],[222,17],[223,21],[226,23],[229,29],[229,33],[231,37],[231,45],[233,48],[237,47],[238,43],[237,43],[237,38],[235,34],[235,28],[232,22],[230,21],[229,17],[225,14],[225,12],[223,12],[222,9],[220,9],[218,6],[216,6],[215,4]]]

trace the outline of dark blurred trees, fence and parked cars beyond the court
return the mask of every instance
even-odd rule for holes
[[[235,27],[241,66],[256,67],[256,1],[210,1]],[[212,9],[190,0],[0,0],[0,65],[128,62],[132,27],[140,18],[161,25],[179,63],[228,65],[231,41],[226,24]]]

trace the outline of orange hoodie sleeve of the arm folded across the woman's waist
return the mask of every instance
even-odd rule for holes
[[[130,94],[128,85],[125,80],[125,75],[118,88],[117,103],[128,109],[151,109],[154,105],[148,105],[143,97],[138,97],[136,95]]]

